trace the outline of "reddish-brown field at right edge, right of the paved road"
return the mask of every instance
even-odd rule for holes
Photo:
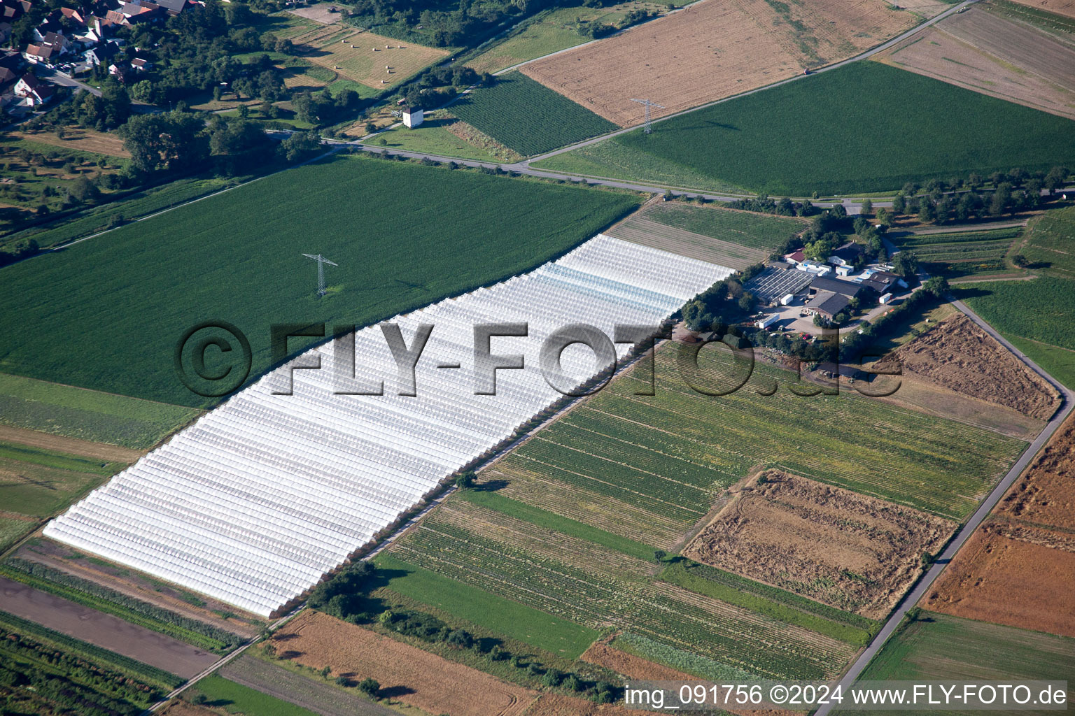
[[[923,607],[1075,637],[1075,419],[959,551]]]

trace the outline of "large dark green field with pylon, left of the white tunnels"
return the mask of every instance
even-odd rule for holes
[[[271,324],[364,325],[496,282],[562,254],[640,201],[335,156],[0,269],[0,330],[19,336],[0,348],[0,370],[212,405],[175,370],[175,347],[194,325],[224,320],[245,332],[254,379],[271,363]],[[339,264],[326,272],[324,298],[303,253]]]

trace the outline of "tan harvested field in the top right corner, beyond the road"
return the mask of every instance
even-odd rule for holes
[[[1075,119],[1075,44],[983,8],[947,17],[875,59]]]

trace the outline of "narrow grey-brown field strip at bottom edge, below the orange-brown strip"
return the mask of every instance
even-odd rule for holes
[[[242,656],[220,675],[322,716],[398,716],[398,712],[254,656]]]

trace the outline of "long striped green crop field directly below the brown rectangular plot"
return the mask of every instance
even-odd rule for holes
[[[828,631],[840,625],[798,611],[785,618],[779,604],[761,598],[754,601],[773,609],[740,607],[658,581],[651,559],[544,527],[454,499],[395,542],[389,554],[510,603],[594,630],[612,624],[751,674],[831,676],[855,651],[802,623]]]

